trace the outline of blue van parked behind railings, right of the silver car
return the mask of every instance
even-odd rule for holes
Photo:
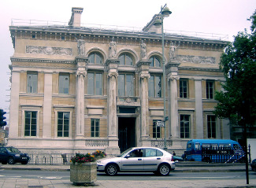
[[[244,157],[242,147],[233,140],[192,139],[187,142],[186,160],[228,163]]]

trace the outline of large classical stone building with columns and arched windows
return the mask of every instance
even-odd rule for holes
[[[230,138],[213,115],[226,42],[165,33],[165,127],[161,33],[86,28],[83,8],[69,26],[9,27],[9,146],[28,153],[120,153],[166,146],[179,153],[191,138]],[[166,131],[166,139],[165,138]]]

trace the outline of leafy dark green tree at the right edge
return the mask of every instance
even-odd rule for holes
[[[249,20],[251,33],[239,32],[221,56],[226,82],[224,91],[215,95],[219,103],[214,113],[241,126],[253,125],[256,120],[256,10]]]

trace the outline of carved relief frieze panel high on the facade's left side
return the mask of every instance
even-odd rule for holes
[[[72,48],[50,47],[50,46],[26,46],[26,53],[72,56]]]

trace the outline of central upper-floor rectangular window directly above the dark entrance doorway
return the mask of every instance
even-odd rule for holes
[[[134,96],[134,76],[129,74],[118,75],[118,96]]]

